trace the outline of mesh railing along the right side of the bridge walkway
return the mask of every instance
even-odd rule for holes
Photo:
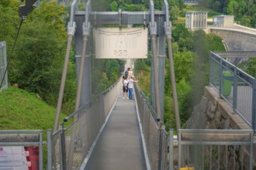
[[[168,134],[164,130],[163,124],[157,122],[155,111],[150,107],[147,97],[145,97],[137,83],[135,83],[134,91],[150,168],[158,170],[166,169],[168,166]]]

